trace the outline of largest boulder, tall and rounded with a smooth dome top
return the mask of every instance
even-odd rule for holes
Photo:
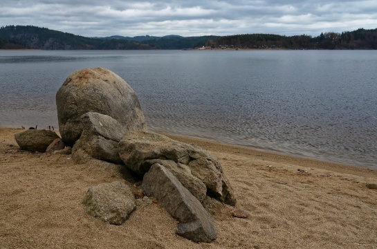
[[[84,68],[68,76],[56,94],[62,140],[72,146],[82,133],[84,113],[101,113],[117,120],[125,131],[146,129],[136,93],[106,68]]]

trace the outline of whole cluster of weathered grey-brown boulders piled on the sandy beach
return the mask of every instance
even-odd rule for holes
[[[236,199],[215,156],[195,145],[147,131],[136,93],[105,68],[85,68],[71,74],[57,91],[56,103],[62,141],[73,146],[73,159],[81,163],[95,158],[125,165],[143,176],[145,194],[158,199],[181,222],[177,234],[197,242],[216,238],[212,216],[201,203],[206,196],[228,205],[235,205]],[[86,194],[87,211],[121,224],[134,210],[132,201],[127,201],[132,199],[125,194],[127,187],[113,183],[100,189],[106,191],[98,194],[98,187],[94,187]],[[114,190],[113,194],[109,190]],[[103,203],[114,195],[122,196],[111,204],[118,208],[104,211]],[[102,196],[101,201],[95,201],[96,196]],[[113,214],[120,214],[120,218]]]

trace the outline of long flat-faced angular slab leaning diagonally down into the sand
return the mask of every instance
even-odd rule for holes
[[[144,175],[142,187],[148,196],[154,196],[178,224],[176,233],[195,242],[216,239],[212,216],[168,169],[158,163]]]

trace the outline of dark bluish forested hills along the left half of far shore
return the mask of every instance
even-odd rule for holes
[[[0,28],[0,48],[32,48],[43,50],[126,50],[182,49],[204,46],[211,37],[82,37],[35,26],[5,26]]]

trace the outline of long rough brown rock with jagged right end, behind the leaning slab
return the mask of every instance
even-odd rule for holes
[[[199,179],[204,183],[207,189],[206,194],[209,196],[229,205],[236,203],[235,194],[228,179],[223,175],[219,161],[200,147],[187,145],[150,131],[133,131],[125,133],[118,144],[118,151],[126,167],[140,176],[148,172],[151,165],[156,163],[153,161],[155,159],[173,161],[175,163],[173,167],[169,166],[172,163],[165,165],[158,162],[169,167],[169,169],[176,167],[176,165],[178,167],[185,165],[181,167],[182,169],[172,169],[172,173],[181,180],[178,172],[183,174],[188,169],[194,178],[190,176],[187,181],[194,182]],[[186,169],[183,169],[183,167]],[[184,182],[184,180],[182,181]],[[183,185],[187,186],[188,184],[184,183]],[[190,187],[187,188],[190,190]],[[202,201],[202,198],[198,195],[199,192],[197,194],[192,192],[192,194],[198,196]]]

